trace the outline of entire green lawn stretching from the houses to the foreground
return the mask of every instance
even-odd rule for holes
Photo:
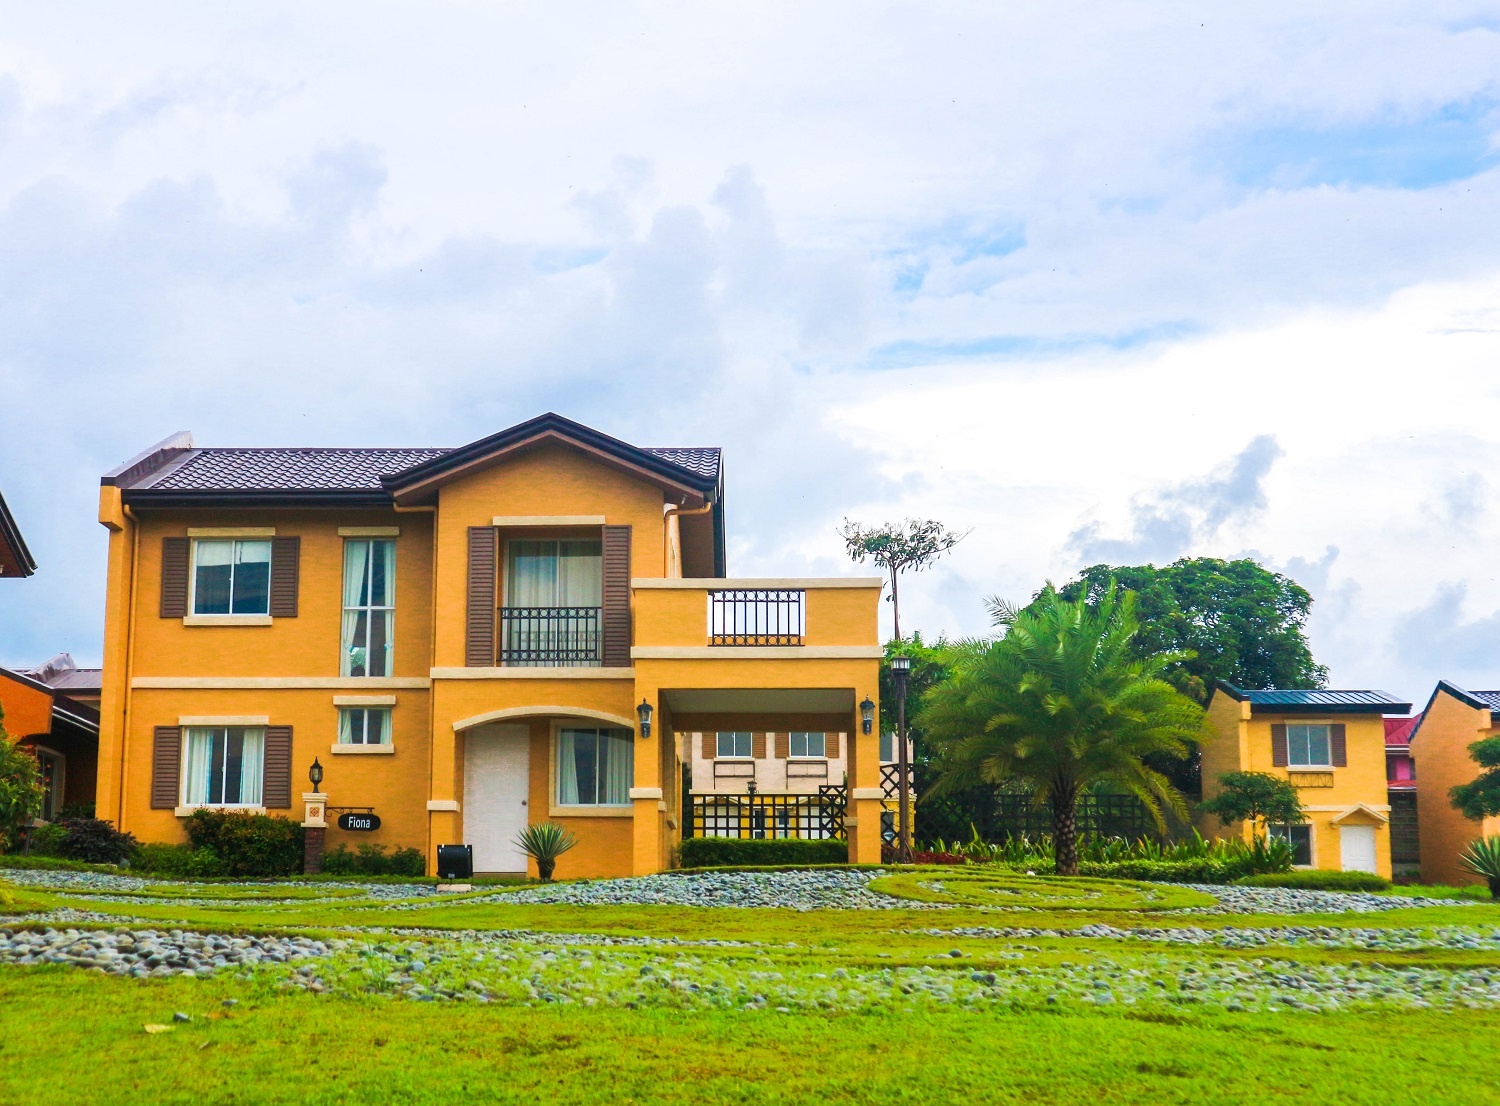
[[[903,876],[894,887],[912,884],[906,890],[932,897],[932,881],[942,878],[939,872],[920,881]],[[951,873],[946,878],[952,881]],[[297,989],[294,965],[226,969],[198,980],[0,965],[0,1106],[825,1100],[1426,1106],[1494,1097],[1500,1002],[1479,990],[1490,978],[1500,981],[1500,950],[1438,947],[1450,932],[1500,935],[1500,906],[1491,905],[1318,917],[1172,914],[1164,911],[1197,903],[1197,896],[1011,876],[990,890],[956,887],[954,894],[1029,908],[564,906],[504,897],[476,902],[486,894],[477,893],[388,909],[308,885],[290,893],[162,884],[140,902],[110,902],[108,893],[6,891],[12,912],[68,906],[150,918],[158,929],[296,930],[356,945],[316,960],[315,978],[327,993]],[[1088,908],[1059,908],[1072,902]],[[1372,953],[948,932],[1077,930],[1089,923],[1416,927],[1431,941]],[[422,927],[440,936],[362,936],[350,933],[351,926]],[[532,936],[519,942],[442,936],[496,929]],[[753,944],[570,948],[550,933]],[[418,956],[426,962],[420,969],[412,968]],[[1364,980],[1374,990],[1370,1001],[1356,998],[1324,1011],[1269,999],[1239,1010],[1226,1004],[1221,984],[1240,977]],[[1382,984],[1416,978],[1434,1008],[1396,1007],[1380,993]],[[418,1001],[412,981],[426,984],[422,999],[434,1001]],[[465,993],[466,981],[489,1001]],[[1113,986],[1119,1001],[1095,1004],[1101,986]],[[758,990],[768,998],[760,1008],[747,1005]],[[237,1002],[226,1007],[224,999]],[[174,1023],[176,1011],[192,1020]],[[147,1025],[170,1028],[147,1032]]]

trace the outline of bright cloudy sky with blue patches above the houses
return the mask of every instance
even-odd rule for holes
[[[99,660],[174,431],[550,410],[722,446],[734,575],[968,531],[928,638],[1250,555],[1332,686],[1500,687],[1497,134],[1500,3],[0,0],[0,663]]]

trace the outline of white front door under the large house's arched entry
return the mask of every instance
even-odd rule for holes
[[[526,828],[531,728],[474,726],[464,741],[464,842],[476,872],[525,872],[516,834]]]

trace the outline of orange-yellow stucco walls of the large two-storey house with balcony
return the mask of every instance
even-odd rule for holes
[[[100,704],[100,816],[116,818],[141,840],[184,837],[174,810],[150,809],[152,737],[184,716],[266,716],[292,728],[292,809],[302,818],[306,768],[316,756],[333,806],[372,806],[374,834],[328,830],[328,845],[372,842],[422,848],[429,864],[438,843],[464,840],[464,728],[502,717],[531,726],[528,809],[543,821],[552,809],[552,729],[560,717],[586,717],[634,729],[636,704],[658,708],[656,732],[636,740],[639,794],[624,816],[550,815],[579,846],[560,863],[564,876],[616,876],[664,867],[681,833],[681,758],[663,692],[694,689],[838,689],[848,702],[878,699],[879,587],[810,587],[807,642],[844,648],[814,656],[774,654],[638,659],[628,669],[466,669],[465,608],[468,528],[496,516],[603,516],[632,527],[632,576],[660,578],[666,566],[663,491],[561,446],[544,446],[482,467],[444,485],[430,510],[142,510],[126,512],[118,492],[102,489],[100,521],[111,530]],[[297,536],[298,617],[270,626],[186,626],[159,617],[164,537],[189,527],[274,527]],[[396,548],[394,677],[339,678],[344,539],[339,527],[399,527]],[[702,527],[699,527],[702,531]],[[532,536],[536,528],[501,530]],[[597,528],[594,530],[597,533]],[[698,533],[698,531],[694,531]],[[706,533],[706,531],[705,531]],[[694,540],[698,540],[694,537]],[[702,551],[694,552],[702,561]],[[706,596],[633,591],[634,644],[706,642]],[[852,653],[848,650],[854,650]],[[480,678],[468,678],[478,675]],[[230,684],[242,686],[230,686]],[[243,686],[243,684],[254,686]],[[316,686],[308,686],[309,683]],[[296,686],[292,686],[296,684]],[[336,695],[393,695],[393,753],[336,753]],[[776,726],[772,726],[776,728]],[[855,788],[879,788],[878,735],[858,734],[858,710],[840,726],[849,743]],[[429,806],[440,809],[429,809]],[[458,807],[458,809],[452,809]],[[868,807],[868,809],[867,809]],[[850,855],[879,858],[879,801],[850,801]],[[332,819],[330,819],[332,821]],[[429,869],[430,870],[430,869]]]

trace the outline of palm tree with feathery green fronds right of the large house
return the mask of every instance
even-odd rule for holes
[[[1023,611],[990,600],[1005,633],[951,647],[948,677],[918,722],[940,747],[936,791],[1011,783],[1052,806],[1059,875],[1078,873],[1078,795],[1098,783],[1136,795],[1166,828],[1182,795],[1146,764],[1185,756],[1203,708],[1162,678],[1182,653],[1134,657],[1136,597],[1106,588],[1096,603],[1062,599],[1052,584]]]

